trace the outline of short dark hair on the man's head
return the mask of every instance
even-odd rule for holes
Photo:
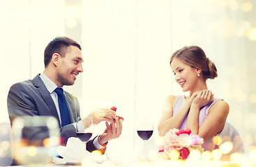
[[[82,50],[80,45],[75,40],[65,36],[54,38],[51,42],[49,42],[47,47],[45,47],[45,67],[49,65],[54,53],[57,53],[62,57],[65,56],[66,50],[69,46],[75,46]]]

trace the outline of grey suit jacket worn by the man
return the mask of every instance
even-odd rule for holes
[[[80,104],[77,97],[64,91],[68,110],[70,112],[71,123],[80,120]],[[59,122],[59,116],[52,97],[45,87],[40,74],[36,75],[32,80],[22,81],[10,87],[7,98],[8,113],[10,122],[17,116],[53,116]],[[68,138],[77,137],[75,127],[70,124],[60,127],[60,136],[65,144]],[[87,142],[86,149],[88,151],[96,150],[93,140]]]

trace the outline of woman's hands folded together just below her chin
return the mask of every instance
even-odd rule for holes
[[[193,93],[190,99],[191,98],[193,98],[191,105],[198,106],[200,109],[202,106],[206,106],[206,104],[213,100],[213,94],[211,93],[211,90],[204,89]]]

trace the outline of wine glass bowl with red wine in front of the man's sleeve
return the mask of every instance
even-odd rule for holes
[[[86,122],[88,123],[89,127],[87,127],[86,129],[84,129],[82,132],[78,130],[77,127],[77,137],[80,138],[80,140],[84,143],[86,143],[87,141],[89,141],[89,139],[91,138],[92,134],[93,134],[93,120],[91,119],[91,117],[87,117],[84,118],[86,120]],[[77,126],[77,124],[76,124]]]

